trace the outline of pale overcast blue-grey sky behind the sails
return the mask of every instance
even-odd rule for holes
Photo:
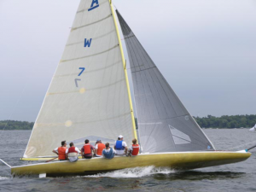
[[[254,0],[113,4],[189,113],[256,114]],[[78,6],[0,0],[0,120],[35,121]]]

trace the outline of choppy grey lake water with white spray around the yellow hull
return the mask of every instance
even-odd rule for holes
[[[256,137],[256,133],[246,129],[204,131],[215,147],[222,150],[247,148],[254,144]],[[19,158],[30,133],[0,131],[0,158],[11,166],[27,164]],[[148,166],[84,177],[11,177],[9,168],[0,163],[0,191],[255,191],[255,151],[241,163],[188,172]]]

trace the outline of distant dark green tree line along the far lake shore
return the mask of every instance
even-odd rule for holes
[[[195,121],[202,128],[241,128],[253,127],[256,124],[255,114],[246,115],[223,115],[214,117],[194,117]],[[135,119],[137,125],[137,118]],[[18,120],[2,120],[0,121],[0,130],[32,130],[34,123]]]

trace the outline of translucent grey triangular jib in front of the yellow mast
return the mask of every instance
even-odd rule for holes
[[[143,152],[213,150],[131,28],[117,11],[131,65]]]

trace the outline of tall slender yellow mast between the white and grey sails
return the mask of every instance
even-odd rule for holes
[[[127,91],[128,91],[129,103],[130,103],[130,108],[131,108],[131,121],[132,121],[133,134],[134,134],[134,137],[137,139],[137,131],[136,131],[134,113],[133,113],[133,108],[132,108],[132,102],[131,102],[131,90],[130,90],[130,84],[129,84],[129,79],[128,79],[127,70],[126,70],[126,61],[125,61],[124,50],[123,50],[123,46],[122,46],[122,42],[121,42],[121,38],[120,38],[120,34],[119,34],[119,27],[117,25],[117,21],[116,21],[115,16],[114,16],[115,13],[113,11],[112,0],[109,0],[109,3],[110,3],[110,7],[111,7],[111,12],[112,12],[112,15],[113,15],[114,26],[115,26],[116,33],[117,33],[117,36],[118,36],[118,39],[119,39],[120,52],[121,52],[121,55],[122,55],[122,61],[123,61],[124,72],[125,72],[125,81],[126,81],[126,84],[127,84]]]

